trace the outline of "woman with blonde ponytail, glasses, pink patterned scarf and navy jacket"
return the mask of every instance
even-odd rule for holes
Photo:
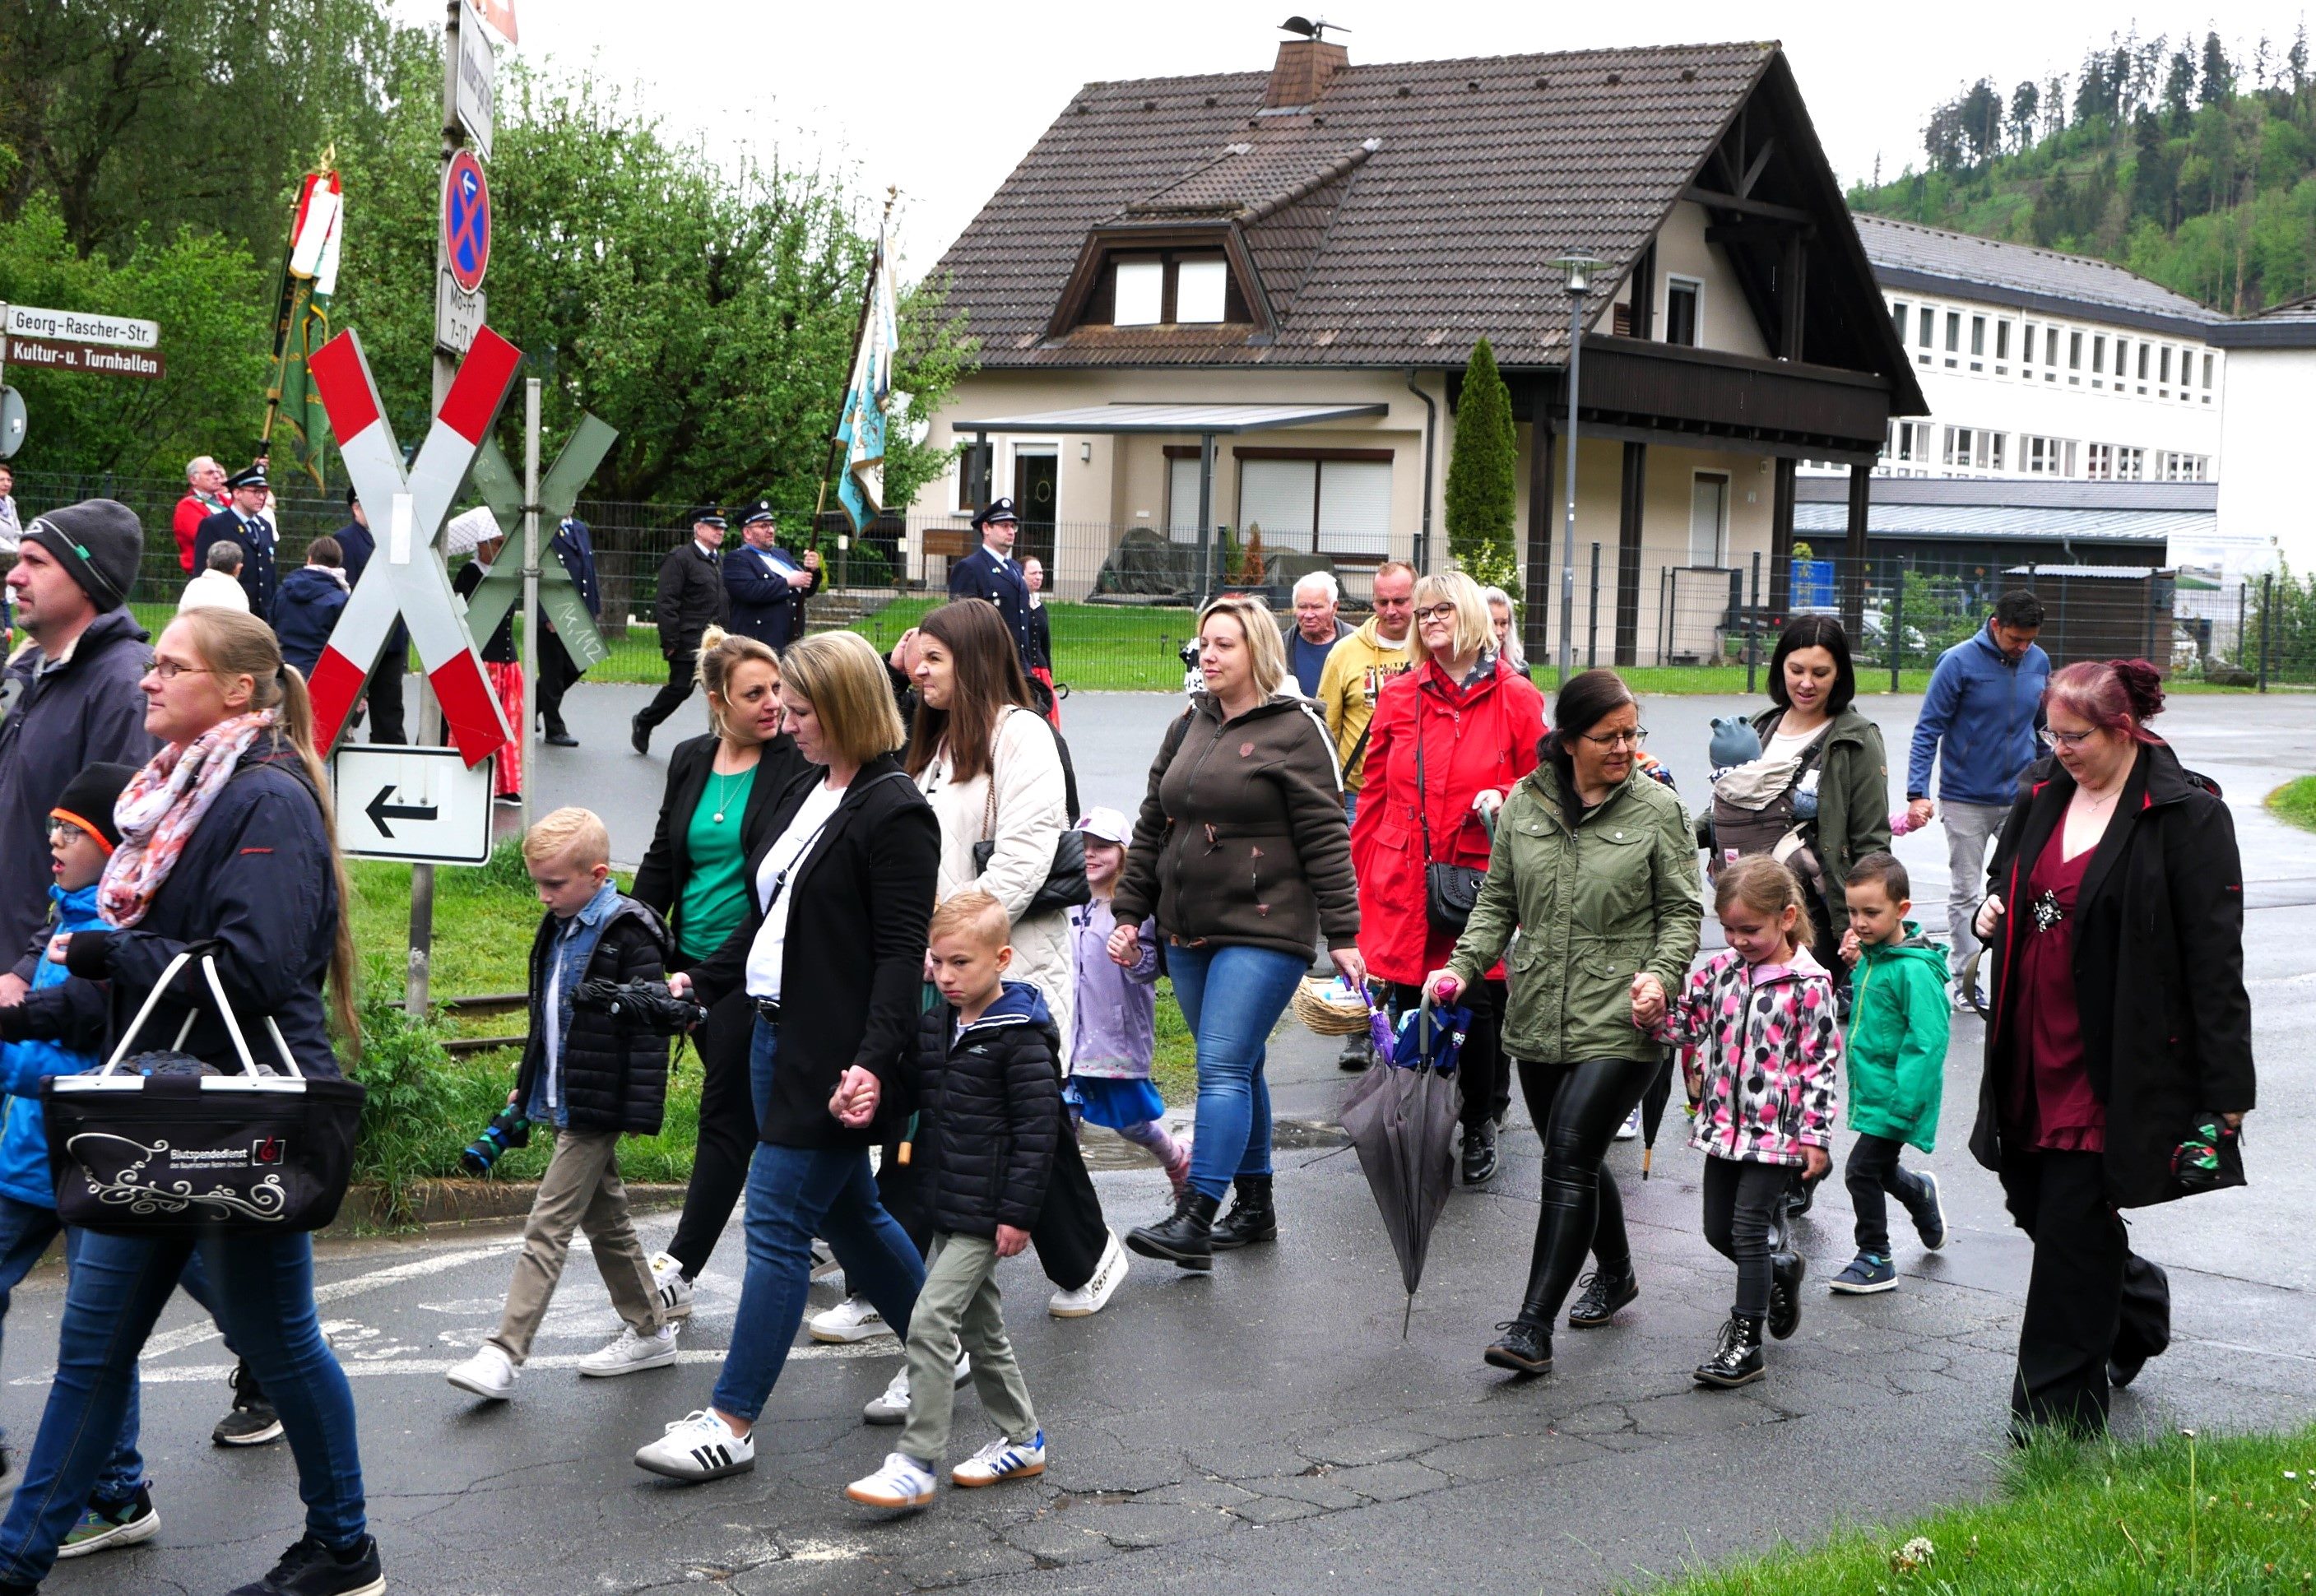
[[[271,1019],[303,1075],[336,1077],[331,1012],[347,1045],[359,1040],[354,945],[306,679],[283,665],[262,621],[195,609],[160,635],[139,688],[146,730],[162,751],[113,808],[120,845],[97,883],[107,929],[60,936],[49,957],[74,975],[111,982],[118,1031],[169,961],[197,947],[215,959],[245,1033],[262,1035]],[[181,973],[146,1028],[183,1033],[181,1052],[239,1075],[241,1059],[213,1008],[201,978]],[[0,1591],[37,1587],[79,1522],[120,1434],[137,1355],[195,1253],[218,1320],[280,1413],[306,1501],[306,1536],[248,1589],[384,1589],[364,1517],[354,1399],[315,1316],[313,1239],[90,1232],[65,1286],[39,1438],[0,1524]]]

